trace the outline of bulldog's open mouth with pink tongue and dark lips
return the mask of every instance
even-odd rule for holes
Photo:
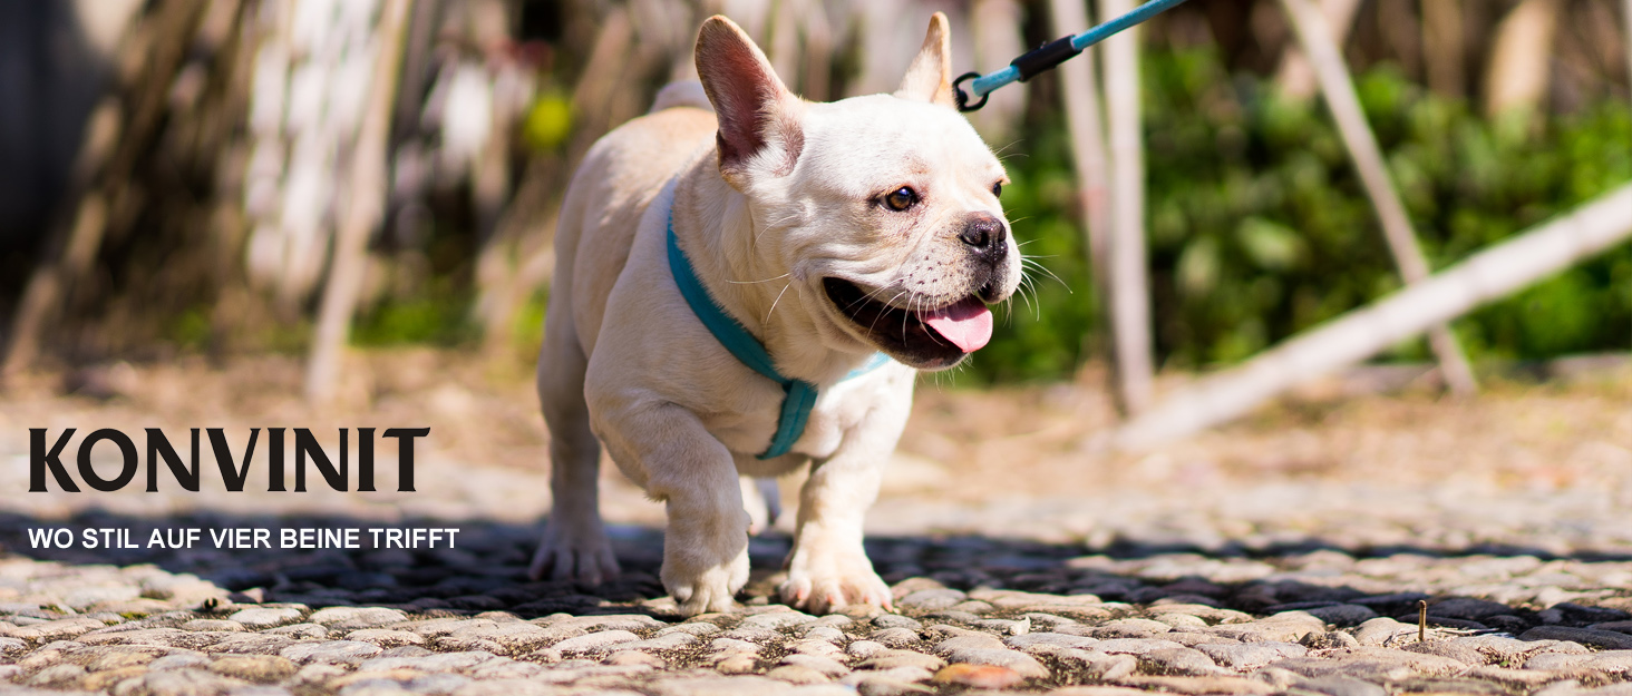
[[[885,352],[917,367],[951,367],[992,339],[992,313],[978,295],[932,310],[907,310],[868,297],[858,285],[823,279],[827,300]]]

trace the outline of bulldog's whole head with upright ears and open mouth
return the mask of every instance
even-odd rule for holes
[[[792,280],[780,306],[809,313],[836,349],[922,370],[986,346],[986,305],[1018,287],[1020,251],[997,200],[1004,168],[953,103],[943,15],[894,95],[806,103],[723,16],[697,37],[697,72],[754,253]]]

